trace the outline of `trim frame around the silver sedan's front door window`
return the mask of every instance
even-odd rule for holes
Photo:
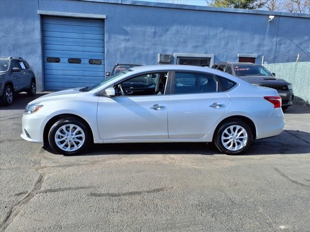
[[[170,89],[171,89],[171,70],[161,70],[161,71],[151,71],[151,72],[143,72],[143,73],[138,73],[138,74],[135,74],[135,75],[132,75],[132,76],[128,76],[126,77],[125,79],[123,80],[120,80],[118,82],[115,82],[113,83],[112,85],[102,89],[99,93],[99,97],[107,97],[106,93],[105,93],[105,90],[109,87],[114,87],[118,84],[120,84],[121,82],[124,82],[128,79],[131,79],[131,78],[134,78],[134,77],[137,77],[137,76],[140,76],[140,75],[143,75],[143,74],[151,74],[151,73],[165,73],[167,72],[168,73],[168,76],[167,76],[167,82],[166,82],[166,87],[165,87],[165,93],[164,94],[161,94],[161,95],[125,95],[125,96],[114,96],[114,97],[110,97],[110,98],[136,98],[136,97],[154,97],[154,96],[164,96],[164,95],[170,95]]]

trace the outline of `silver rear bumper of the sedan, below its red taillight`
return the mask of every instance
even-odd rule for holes
[[[284,115],[281,108],[274,108],[270,116],[254,118],[256,126],[256,139],[263,139],[279,135],[285,126]]]

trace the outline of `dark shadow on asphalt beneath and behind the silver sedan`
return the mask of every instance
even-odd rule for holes
[[[307,154],[310,153],[310,133],[285,130],[279,136],[254,141],[240,156]],[[55,154],[51,148],[44,148]],[[98,155],[216,155],[222,154],[212,143],[132,143],[93,144],[86,153]]]

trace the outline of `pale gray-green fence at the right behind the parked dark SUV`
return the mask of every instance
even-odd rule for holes
[[[295,101],[310,103],[310,62],[264,64],[263,66],[271,73],[276,73],[276,77],[293,84]]]

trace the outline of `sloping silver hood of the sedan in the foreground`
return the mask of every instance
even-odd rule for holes
[[[39,97],[39,98],[33,100],[32,102],[29,102],[29,104],[75,98],[78,96],[78,94],[81,93],[79,91],[80,89],[81,89],[80,87],[79,88],[70,88],[70,89],[57,91],[54,93],[49,93],[47,95],[44,95],[42,97]]]

